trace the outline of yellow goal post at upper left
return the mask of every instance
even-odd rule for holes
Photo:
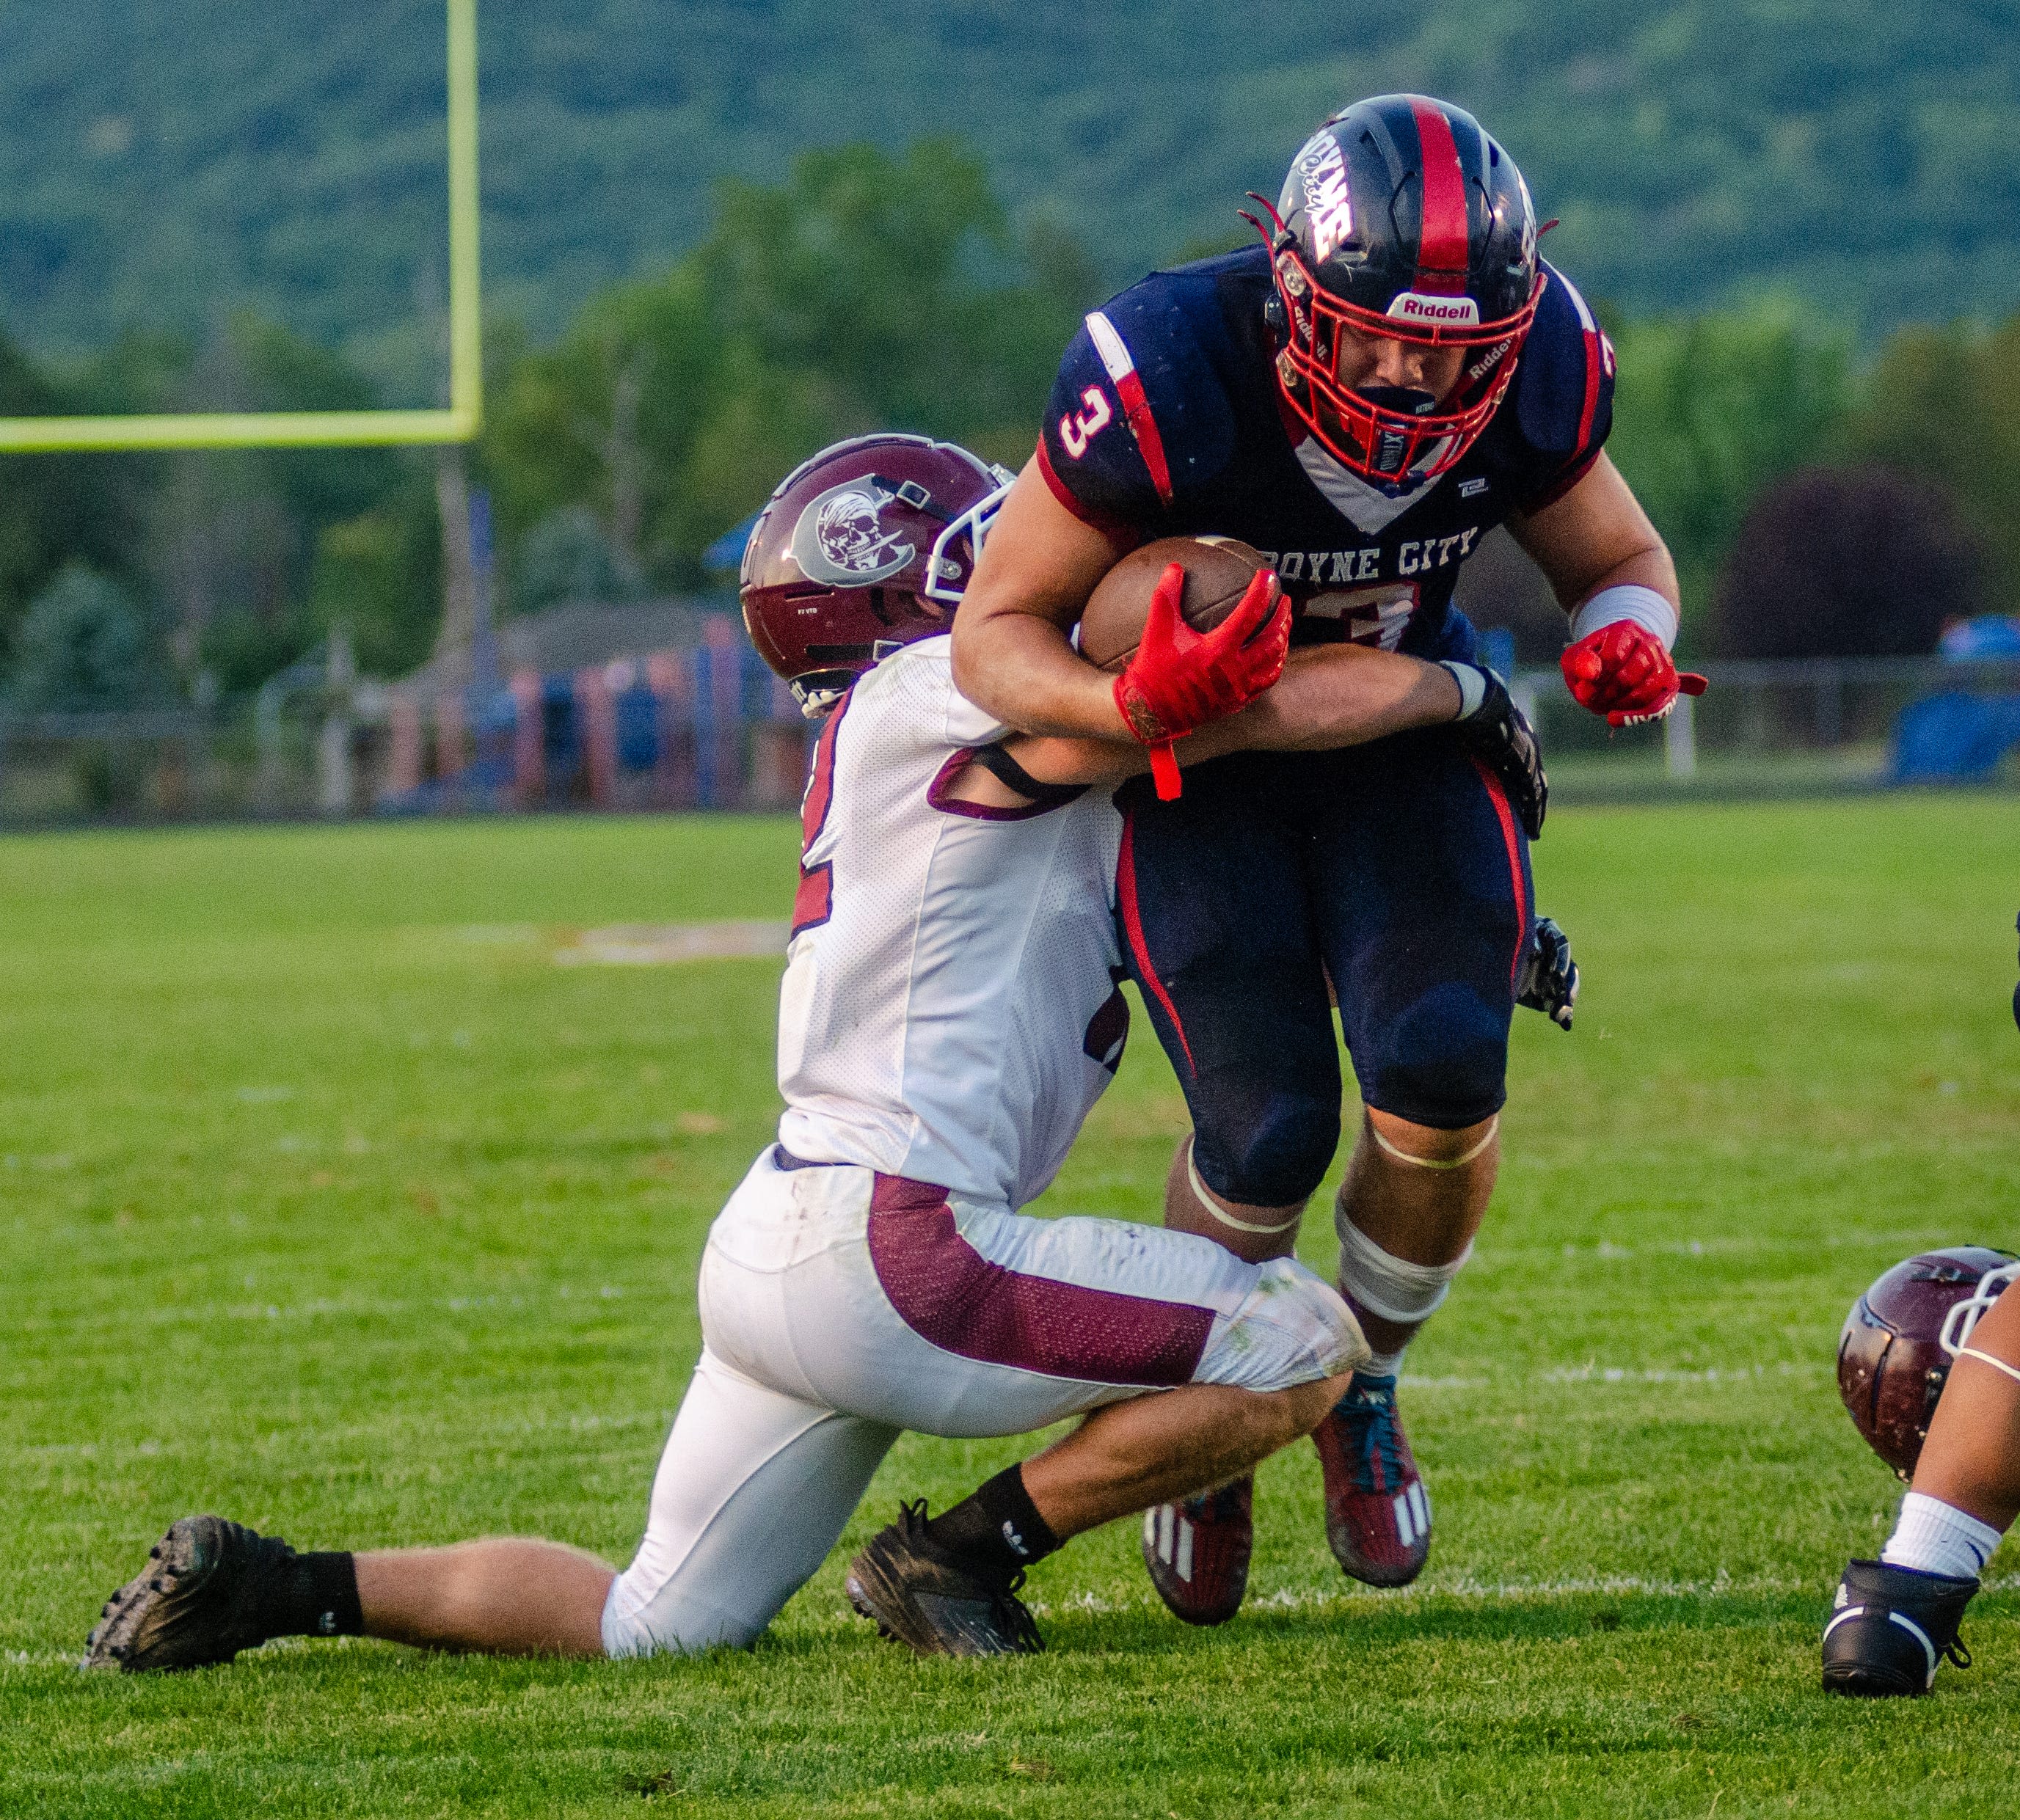
[[[448,8],[448,410],[246,410],[0,418],[0,454],[69,448],[339,448],[469,442],[483,428],[477,0]]]

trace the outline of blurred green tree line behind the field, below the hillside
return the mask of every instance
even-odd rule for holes
[[[804,154],[776,186],[725,184],[681,261],[602,291],[558,341],[493,325],[467,454],[16,457],[6,699],[236,695],[337,622],[368,673],[402,675],[442,622],[444,461],[491,493],[503,612],[709,586],[703,549],[836,436],[913,428],[1020,465],[1097,299],[1083,246],[1012,232],[953,141]],[[1610,446],[1677,553],[1687,650],[1929,650],[1947,618],[2016,598],[2020,319],[1901,329],[1864,368],[1794,303],[1610,327]],[[248,315],[61,376],[0,341],[8,414],[374,402],[343,358]],[[1501,616],[1525,661],[1561,642],[1555,608]]]

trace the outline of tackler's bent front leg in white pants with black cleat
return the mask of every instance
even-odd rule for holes
[[[1069,1537],[1242,1473],[1307,1432],[1366,1341],[1291,1260],[1119,1220],[1032,1220],[897,1178],[830,1172],[802,1196],[873,1198],[865,1244],[826,1244],[788,1291],[798,1357],[836,1406],[937,1434],[1081,1428],[848,1572],[858,1610],[921,1652],[1038,1646],[1018,1578]],[[804,1301],[800,1297],[804,1295]],[[856,1319],[818,1321],[854,1309]]]

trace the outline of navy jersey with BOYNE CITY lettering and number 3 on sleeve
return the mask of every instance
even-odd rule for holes
[[[1436,481],[1361,481],[1279,410],[1262,246],[1151,273],[1093,311],[1058,366],[1040,467],[1069,511],[1121,543],[1252,543],[1295,604],[1293,642],[1428,654],[1458,564],[1509,513],[1566,493],[1612,426],[1612,345],[1545,271],[1501,408]]]

